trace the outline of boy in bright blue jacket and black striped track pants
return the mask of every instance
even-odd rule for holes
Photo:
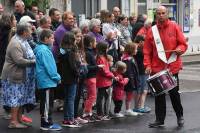
[[[40,115],[41,130],[61,130],[62,128],[53,124],[53,89],[61,82],[57,73],[56,63],[51,52],[54,36],[51,30],[43,30],[40,35],[40,43],[36,46],[36,79],[40,92]]]

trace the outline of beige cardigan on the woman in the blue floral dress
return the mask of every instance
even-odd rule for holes
[[[1,74],[2,80],[8,79],[14,83],[22,83],[25,80],[26,66],[33,65],[35,59],[25,59],[24,54],[25,50],[13,37],[6,50],[5,63]]]

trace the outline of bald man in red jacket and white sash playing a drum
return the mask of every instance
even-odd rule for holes
[[[145,43],[144,43],[144,65],[147,74],[155,74],[164,69],[169,69],[177,81],[177,87],[169,91],[169,96],[172,102],[172,106],[176,112],[177,124],[179,127],[184,125],[183,119],[183,107],[181,105],[179,90],[179,79],[178,73],[182,69],[182,62],[180,55],[183,54],[187,49],[187,44],[180,27],[168,19],[168,10],[164,6],[159,6],[156,10],[156,26],[158,28],[158,35],[160,35],[161,40],[154,41],[155,31],[153,28],[149,30]],[[154,35],[153,35],[154,34]],[[163,49],[160,50],[157,46],[163,44]],[[155,43],[156,42],[156,43]],[[158,51],[166,51],[164,56],[169,62],[169,58],[173,54],[175,61],[171,63],[165,63],[166,61],[160,56]],[[167,52],[174,51],[174,52]],[[177,56],[177,57],[176,57]],[[173,57],[172,57],[173,58]],[[155,114],[156,120],[154,123],[150,123],[149,127],[155,128],[164,125],[164,120],[166,116],[166,100],[165,94],[155,97]]]

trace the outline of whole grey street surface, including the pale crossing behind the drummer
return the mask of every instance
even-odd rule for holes
[[[200,133],[200,55],[183,56],[184,67],[180,73],[181,99],[184,108],[185,126],[177,128],[176,116],[169,96],[167,99],[167,116],[165,126],[162,128],[148,128],[148,123],[155,120],[154,97],[148,96],[147,103],[152,111],[137,117],[125,117],[83,125],[81,128],[63,128],[62,133]],[[185,63],[187,62],[187,63]],[[194,63],[195,62],[195,63]],[[29,114],[33,118],[33,126],[23,130],[8,129],[8,121],[0,118],[0,133],[38,133],[40,131],[39,110]],[[55,122],[60,123],[63,113],[54,113]],[[50,131],[49,131],[50,132]],[[52,131],[50,132],[52,133]]]

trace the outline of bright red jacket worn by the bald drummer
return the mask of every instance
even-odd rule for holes
[[[166,20],[162,25],[157,23],[157,26],[165,51],[180,49],[182,53],[184,53],[187,50],[185,37],[176,23]],[[160,60],[155,46],[152,29],[148,31],[145,38],[143,52],[144,66],[145,68],[150,67],[152,69],[152,74],[160,72],[165,68],[168,68],[172,74],[178,73],[179,70],[182,69],[180,56],[177,57],[175,62],[170,64],[166,64]],[[170,55],[171,52],[166,53],[167,59],[169,59]]]

